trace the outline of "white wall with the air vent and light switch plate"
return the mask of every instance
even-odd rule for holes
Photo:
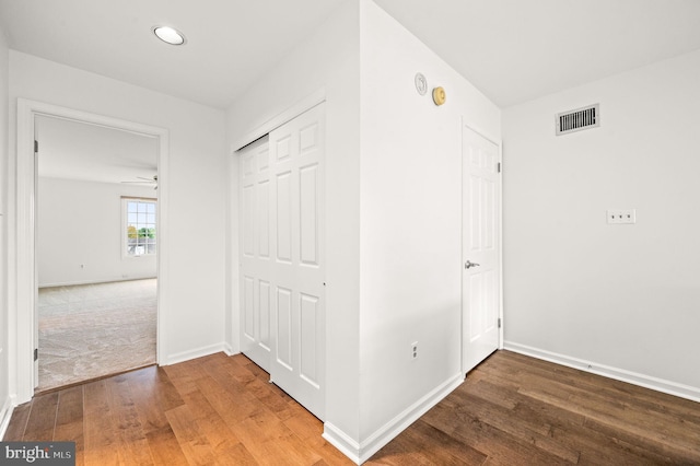
[[[700,51],[504,110],[508,347],[700,399],[698,83]]]

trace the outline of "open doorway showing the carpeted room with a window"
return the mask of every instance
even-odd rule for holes
[[[39,393],[155,363],[158,138],[34,125]]]

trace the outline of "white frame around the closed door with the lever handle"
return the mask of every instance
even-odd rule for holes
[[[495,147],[498,147],[498,151],[499,151],[499,163],[501,164],[501,172],[499,176],[499,186],[497,189],[497,194],[499,196],[498,199],[498,213],[497,217],[499,219],[499,229],[498,229],[498,234],[499,234],[499,238],[498,238],[498,247],[499,247],[499,318],[501,319],[501,326],[499,328],[499,343],[498,343],[498,349],[502,350],[503,349],[503,328],[505,327],[505,323],[503,319],[503,143],[500,139],[497,138],[492,138],[488,135],[486,135],[482,130],[480,130],[479,128],[476,128],[471,125],[469,125],[466,119],[464,118],[464,116],[460,118],[460,126],[459,126],[459,159],[460,159],[460,164],[464,163],[464,129],[468,128],[471,131],[476,132],[477,135],[479,135],[480,137],[482,137],[483,139],[486,139],[487,141],[495,144]],[[464,173],[464,166],[460,166],[460,173]],[[462,191],[464,193],[464,188],[465,188],[465,183],[464,183],[464,177],[460,182],[462,184]],[[464,199],[464,195],[462,195],[462,198]],[[465,207],[462,206],[462,214],[464,215],[464,210]],[[464,224],[464,219],[463,219],[463,224]],[[464,282],[464,267],[462,264],[462,258],[464,258],[464,231],[462,232],[462,256],[460,256],[460,260],[459,260],[459,270],[460,270],[460,283]],[[462,373],[466,374],[466,368],[465,368],[465,361],[464,361],[464,326],[465,326],[465,312],[464,312],[464,302],[465,302],[465,295],[464,295],[464,291],[462,292],[462,302],[460,302],[460,333],[462,333],[462,338],[460,340],[460,347],[459,347],[459,359],[462,361],[460,363],[460,369],[462,369]]]

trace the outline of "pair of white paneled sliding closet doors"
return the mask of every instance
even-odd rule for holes
[[[242,151],[242,351],[323,420],[324,104]]]

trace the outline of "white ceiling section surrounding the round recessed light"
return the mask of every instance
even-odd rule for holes
[[[15,50],[226,108],[342,1],[0,0],[0,25]]]

